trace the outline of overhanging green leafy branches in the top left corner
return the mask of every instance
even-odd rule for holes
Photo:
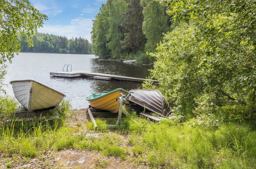
[[[29,45],[32,45],[31,35],[36,33],[38,27],[42,27],[43,20],[47,16],[32,7],[27,0],[3,0],[0,1],[0,64],[19,52],[20,43],[17,34],[28,37]]]

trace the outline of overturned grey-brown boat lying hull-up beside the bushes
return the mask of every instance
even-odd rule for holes
[[[131,90],[128,100],[144,107],[145,109],[159,114],[168,116],[171,112],[169,103],[158,90]]]

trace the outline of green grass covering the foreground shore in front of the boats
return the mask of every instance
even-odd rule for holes
[[[8,105],[12,108],[5,110],[16,108],[13,103]],[[122,129],[107,129],[106,122],[98,120],[100,125],[95,131],[88,122],[87,130],[101,133],[95,136],[81,132],[82,125],[64,126],[68,108],[69,104],[62,102],[54,110],[53,113],[62,110],[58,120],[26,123],[13,120],[2,125],[0,151],[13,157],[23,156],[24,162],[47,151],[77,149],[129,159],[152,168],[256,168],[256,132],[250,124],[222,122],[213,127],[180,120],[154,123],[131,113]],[[107,161],[99,161],[96,167],[106,165]],[[6,167],[13,167],[13,162],[6,160]]]

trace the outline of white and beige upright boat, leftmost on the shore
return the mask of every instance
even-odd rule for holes
[[[14,96],[29,111],[55,107],[66,96],[34,80],[10,81]]]

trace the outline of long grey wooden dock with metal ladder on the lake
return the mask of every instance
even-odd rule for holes
[[[91,77],[94,78],[94,76],[102,77],[101,79],[107,79],[107,80],[120,80],[120,81],[134,81],[134,82],[143,82],[145,80],[150,79],[143,79],[143,78],[136,78],[136,77],[127,77],[127,76],[119,76],[119,75],[110,75],[110,74],[104,74],[104,73],[96,73],[96,72],[90,72],[90,71],[71,71],[71,72],[50,72],[50,76],[52,77],[64,77],[64,78],[77,78],[77,77]],[[153,82],[160,82],[159,80],[151,80]]]

